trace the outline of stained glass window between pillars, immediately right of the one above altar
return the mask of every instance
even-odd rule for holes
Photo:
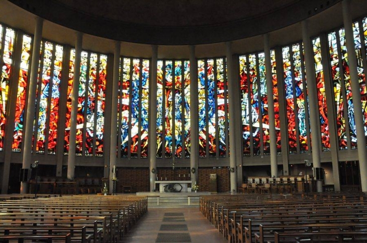
[[[227,77],[224,58],[198,60],[199,156],[226,157]]]

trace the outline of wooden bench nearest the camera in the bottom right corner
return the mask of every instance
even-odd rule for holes
[[[274,232],[274,240],[268,240],[267,243],[285,243],[285,242],[367,242],[367,232],[354,231],[332,231],[332,232]]]

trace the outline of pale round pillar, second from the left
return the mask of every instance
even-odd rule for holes
[[[70,139],[69,153],[67,156],[67,178],[73,179],[75,173],[75,147],[76,147],[76,115],[78,108],[78,92],[80,79],[80,58],[83,34],[76,32],[75,59],[74,59],[74,78],[72,81],[71,95],[71,114],[70,114]]]

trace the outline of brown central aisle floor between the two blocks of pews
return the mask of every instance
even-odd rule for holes
[[[182,226],[174,226],[173,224]],[[188,230],[185,230],[184,225],[187,225]],[[165,240],[165,237],[168,240]],[[178,238],[189,238],[191,241],[177,241]],[[228,240],[203,216],[199,208],[148,208],[148,212],[123,237],[122,242],[224,243],[228,242]]]

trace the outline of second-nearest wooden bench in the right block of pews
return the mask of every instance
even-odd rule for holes
[[[255,233],[255,243],[264,243],[266,239],[274,238],[274,232],[329,232],[329,231],[355,231],[364,230],[367,223],[311,223],[311,224],[260,224],[259,233]],[[266,238],[266,239],[265,239]]]

